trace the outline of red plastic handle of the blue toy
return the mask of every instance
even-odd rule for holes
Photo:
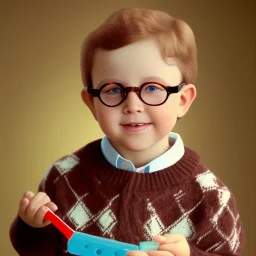
[[[46,212],[44,219],[49,220],[68,240],[75,233],[71,227],[50,210]]]

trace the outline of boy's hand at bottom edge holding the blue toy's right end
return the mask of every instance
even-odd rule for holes
[[[190,248],[183,235],[155,236],[154,241],[159,243],[157,251],[141,252],[130,251],[127,256],[189,256]]]

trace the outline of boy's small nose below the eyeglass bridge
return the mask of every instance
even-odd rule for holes
[[[123,113],[135,114],[144,111],[144,103],[140,100],[136,92],[129,92],[126,100],[124,101]]]

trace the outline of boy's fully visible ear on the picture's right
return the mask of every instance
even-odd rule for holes
[[[196,97],[196,87],[193,84],[185,85],[180,91],[180,102],[178,107],[178,118],[183,117],[189,110]]]

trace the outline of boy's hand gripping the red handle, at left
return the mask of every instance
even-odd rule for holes
[[[27,191],[20,200],[18,214],[28,225],[42,228],[50,224],[50,221],[44,221],[44,215],[48,209],[55,212],[58,207],[51,202],[46,193],[38,192],[34,194]]]

